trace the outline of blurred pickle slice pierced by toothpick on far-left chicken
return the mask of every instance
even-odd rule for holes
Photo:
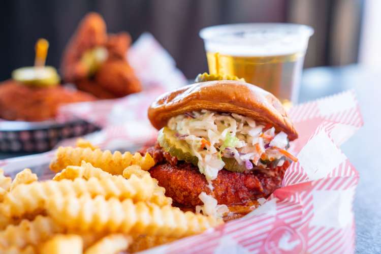
[[[30,86],[55,86],[60,78],[54,67],[23,67],[12,72],[12,78]]]

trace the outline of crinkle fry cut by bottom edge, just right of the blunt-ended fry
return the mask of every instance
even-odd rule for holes
[[[90,246],[84,254],[114,254],[126,250],[132,242],[131,236],[123,234],[108,235]]]

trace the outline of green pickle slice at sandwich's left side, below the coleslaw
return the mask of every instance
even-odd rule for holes
[[[177,160],[197,166],[198,158],[192,155],[189,145],[184,140],[179,140],[175,136],[175,131],[168,127],[162,128],[157,136],[157,141],[166,152],[177,157]]]

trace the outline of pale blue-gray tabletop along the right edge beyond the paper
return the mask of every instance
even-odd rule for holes
[[[341,149],[360,173],[354,211],[356,252],[381,253],[381,70],[360,66],[311,68],[303,73],[299,102],[355,89],[364,126]],[[25,154],[2,154],[0,159]]]

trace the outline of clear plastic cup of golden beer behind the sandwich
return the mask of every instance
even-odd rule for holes
[[[299,81],[313,29],[289,23],[246,23],[201,29],[210,74],[244,78],[284,106],[297,103]]]

